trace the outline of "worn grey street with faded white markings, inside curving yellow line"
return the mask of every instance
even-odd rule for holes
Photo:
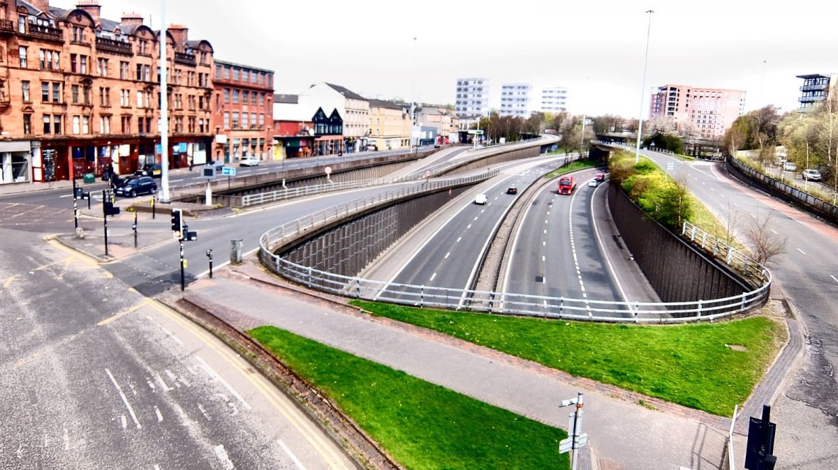
[[[353,467],[212,335],[75,252],[0,236],[0,467]]]

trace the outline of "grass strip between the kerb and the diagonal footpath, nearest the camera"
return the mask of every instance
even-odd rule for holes
[[[559,428],[273,326],[249,334],[407,468],[570,468]]]

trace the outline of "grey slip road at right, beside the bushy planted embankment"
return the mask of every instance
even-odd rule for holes
[[[733,180],[719,164],[644,155],[661,168],[675,162],[675,177],[684,177],[716,217],[742,227],[739,238],[754,222],[767,222],[772,235],[786,240],[784,253],[769,263],[773,289],[794,306],[808,332],[802,364],[773,406],[774,453],[786,468],[834,467],[826,462],[838,461],[838,229]]]

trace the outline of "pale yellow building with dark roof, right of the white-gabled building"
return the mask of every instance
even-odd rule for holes
[[[411,145],[410,105],[370,99],[369,150],[396,150]]]

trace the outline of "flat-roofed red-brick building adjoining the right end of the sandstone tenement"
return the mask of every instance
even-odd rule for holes
[[[215,160],[264,160],[273,146],[273,71],[215,60]]]

